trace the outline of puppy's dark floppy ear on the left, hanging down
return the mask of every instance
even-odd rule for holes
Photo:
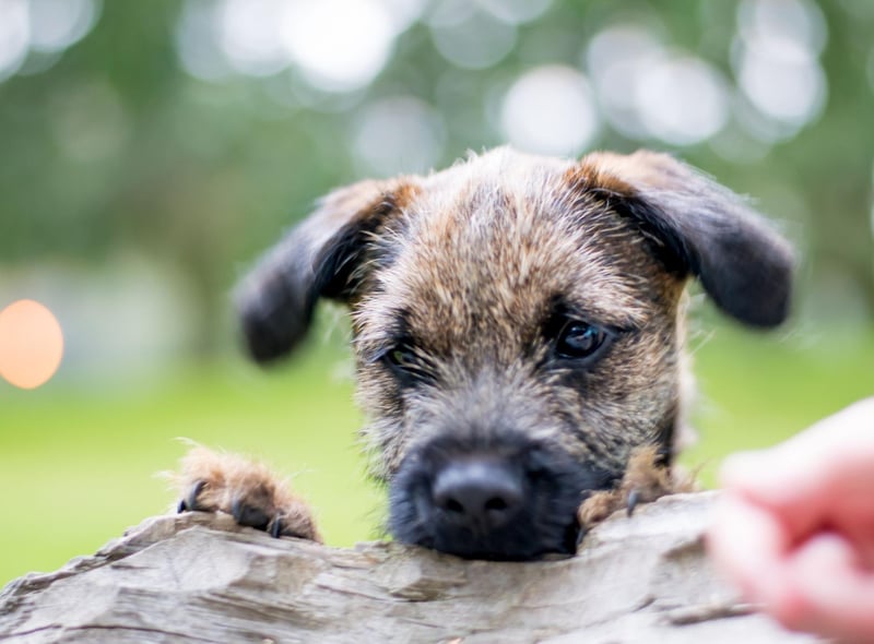
[[[368,240],[417,191],[413,178],[362,181],[317,210],[264,253],[235,294],[249,354],[270,362],[303,339],[320,297],[349,303],[362,281]]]

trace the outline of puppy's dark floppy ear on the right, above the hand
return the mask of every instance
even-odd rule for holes
[[[792,249],[740,196],[665,154],[593,153],[581,164],[589,189],[618,202],[668,267],[698,277],[722,311],[761,327],[787,318]]]

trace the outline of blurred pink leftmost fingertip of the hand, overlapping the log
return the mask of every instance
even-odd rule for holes
[[[766,510],[723,493],[713,509],[706,539],[717,569],[748,601],[759,603],[775,594],[770,586],[781,583],[789,539]]]

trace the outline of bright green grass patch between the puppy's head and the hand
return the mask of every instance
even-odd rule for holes
[[[695,342],[690,346],[695,347]],[[779,335],[720,327],[694,349],[698,441],[683,462],[716,487],[722,458],[773,445],[874,395],[874,333]]]

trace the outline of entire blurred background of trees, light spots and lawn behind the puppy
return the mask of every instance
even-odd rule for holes
[[[0,584],[169,508],[176,437],[287,473],[333,545],[379,536],[342,311],[263,372],[228,294],[332,187],[508,142],[669,151],[799,248],[777,333],[695,297],[706,485],[874,393],[870,0],[0,0],[0,309],[66,342],[0,380]]]

